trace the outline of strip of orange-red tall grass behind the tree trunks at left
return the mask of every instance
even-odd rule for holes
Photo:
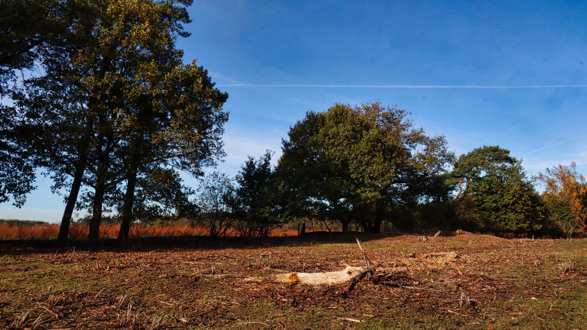
[[[119,224],[103,224],[100,226],[100,238],[116,238],[120,230]],[[69,238],[82,240],[87,237],[87,224],[72,224],[69,228]],[[9,225],[0,224],[0,240],[50,240],[59,233],[59,224],[43,225]],[[188,224],[133,224],[130,227],[131,237],[172,237],[207,235],[203,227],[192,227]],[[295,236],[295,230],[275,230],[270,236]],[[236,233],[229,233],[234,236]]]

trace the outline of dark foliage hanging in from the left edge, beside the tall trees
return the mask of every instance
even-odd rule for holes
[[[29,131],[10,99],[21,88],[24,72],[35,67],[43,46],[62,39],[65,29],[57,7],[52,0],[0,1],[0,203],[12,200],[21,207],[35,188]]]

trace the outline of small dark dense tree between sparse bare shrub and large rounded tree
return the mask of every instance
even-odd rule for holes
[[[231,208],[242,235],[266,236],[279,224],[278,218],[272,217],[272,154],[267,150],[258,159],[249,156],[237,174]]]

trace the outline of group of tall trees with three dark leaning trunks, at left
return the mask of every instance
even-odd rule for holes
[[[153,175],[177,183],[176,170],[199,176],[214,166],[224,156],[228,120],[222,111],[227,94],[195,61],[184,64],[176,48],[177,38],[189,35],[183,25],[190,22],[191,2],[0,3],[2,86],[16,80],[15,70],[40,68],[22,75],[22,88],[11,89],[15,107],[1,109],[0,153],[11,156],[0,160],[1,201],[12,193],[22,203],[38,166],[55,179],[56,191],[70,187],[62,229],[85,191],[84,204],[93,212],[90,237],[97,238],[106,207],[119,206],[128,228],[140,214],[159,214],[161,205],[178,210],[185,204],[149,186]],[[17,132],[17,123],[27,136],[8,134]],[[181,191],[178,186],[174,194]],[[59,237],[65,239],[67,230]]]

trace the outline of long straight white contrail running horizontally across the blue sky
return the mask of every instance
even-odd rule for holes
[[[318,85],[318,84],[255,84],[231,83],[217,87],[319,87],[319,88],[387,88],[387,89],[537,89],[537,88],[582,88],[587,85]]]

